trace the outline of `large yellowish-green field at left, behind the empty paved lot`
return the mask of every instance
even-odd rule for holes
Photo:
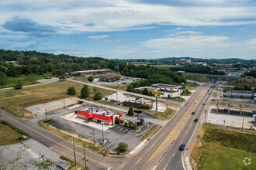
[[[2,109],[17,117],[23,117],[23,110],[24,117],[31,118],[33,117],[33,114],[22,108],[62,99],[68,87],[74,87],[77,90],[77,93],[74,96],[79,97],[83,85],[71,81],[58,81],[34,87],[23,87],[21,90],[0,90],[0,105]],[[86,100],[93,100],[94,89],[102,93],[103,96],[109,94],[109,90],[89,87],[91,93]],[[66,95],[66,97],[69,96]]]

